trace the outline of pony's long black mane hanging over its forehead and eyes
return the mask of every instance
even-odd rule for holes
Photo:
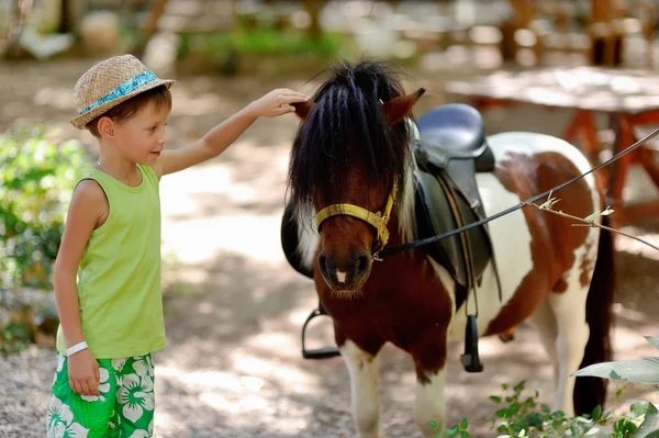
[[[410,159],[406,123],[391,128],[380,108],[381,102],[404,93],[393,65],[339,63],[330,71],[332,77],[313,97],[314,108],[301,124],[290,156],[289,203],[303,217],[310,217],[314,191],[330,202],[340,201],[337,196],[347,183],[350,148],[365,154],[370,187],[384,183],[386,173],[396,178],[399,200]]]

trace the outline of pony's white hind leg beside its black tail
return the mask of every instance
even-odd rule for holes
[[[574,415],[574,378],[570,374],[579,369],[590,329],[585,322],[585,299],[589,288],[576,278],[565,292],[551,292],[547,303],[554,312],[557,327],[558,384],[555,411]]]

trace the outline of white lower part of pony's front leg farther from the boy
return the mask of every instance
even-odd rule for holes
[[[442,426],[446,423],[446,407],[444,404],[444,386],[446,371],[439,370],[429,377],[429,383],[416,383],[416,401],[414,403],[414,419],[424,437],[437,436],[437,429],[432,428],[429,422]]]

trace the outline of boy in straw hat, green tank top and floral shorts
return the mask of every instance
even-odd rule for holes
[[[53,282],[60,326],[48,437],[150,437],[154,367],[165,347],[160,299],[160,177],[216,157],[259,116],[294,112],[309,97],[278,89],[201,139],[164,150],[169,87],[132,55],[76,83],[79,130],[100,157],[79,181]]]

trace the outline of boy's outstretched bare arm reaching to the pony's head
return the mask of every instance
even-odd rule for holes
[[[294,112],[291,103],[305,102],[306,94],[286,88],[276,89],[255,100],[236,114],[209,131],[203,137],[180,149],[164,150],[154,165],[154,170],[161,177],[194,166],[222,154],[236,141],[258,117],[275,117]]]

